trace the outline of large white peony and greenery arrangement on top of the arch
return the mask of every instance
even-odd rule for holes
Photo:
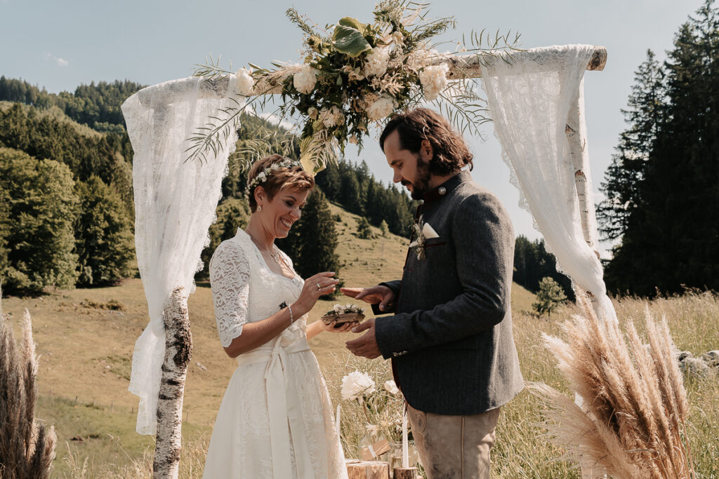
[[[282,101],[275,113],[281,119],[298,118],[303,167],[312,173],[344,153],[347,143],[362,149],[362,141],[373,125],[393,112],[422,103],[434,103],[460,131],[479,134],[485,101],[475,92],[472,79],[447,79],[451,54],[436,50],[433,40],[455,26],[453,17],[427,19],[423,5],[408,0],[385,0],[375,7],[374,22],[365,24],[344,17],[335,25],[319,29],[295,9],[287,16],[303,31],[303,64],[274,64],[273,69],[249,64],[237,72],[218,62],[199,65],[196,75],[229,78],[234,82],[232,106],[196,131],[188,150],[189,159],[204,159],[237,128],[242,113],[255,113],[252,105],[265,106],[270,94]],[[456,45],[462,52],[498,55],[516,50],[518,34],[491,37],[485,32],[470,35],[470,47]],[[484,46],[483,46],[484,45]],[[470,57],[472,55],[465,55]],[[257,157],[255,152],[250,157]]]

